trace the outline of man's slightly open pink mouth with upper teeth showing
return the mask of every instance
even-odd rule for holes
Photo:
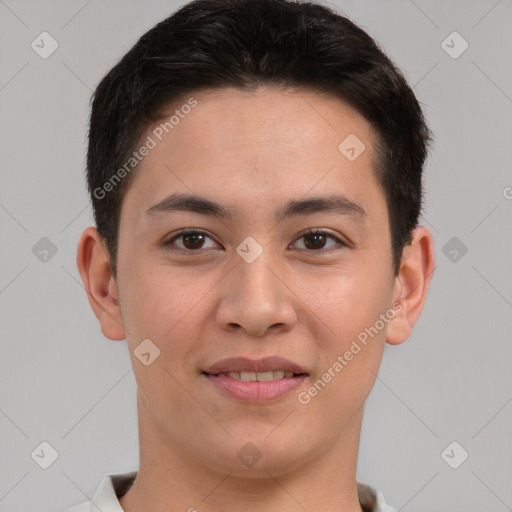
[[[252,403],[282,399],[309,377],[280,357],[223,359],[201,373],[221,394]]]

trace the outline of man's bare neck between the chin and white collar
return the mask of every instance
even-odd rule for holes
[[[139,471],[119,500],[125,512],[362,512],[355,476],[362,409],[325,453],[248,476],[184,453],[143,408],[139,402]]]

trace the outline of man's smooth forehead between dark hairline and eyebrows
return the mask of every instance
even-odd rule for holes
[[[195,106],[184,108],[191,98]],[[380,193],[372,172],[372,129],[331,95],[268,88],[198,91],[168,105],[142,142],[148,137],[154,147],[123,203],[137,216],[172,192],[207,195],[234,208],[252,201],[264,208],[309,192],[340,192],[359,204],[379,200],[371,197]],[[354,149],[355,159],[347,149]]]

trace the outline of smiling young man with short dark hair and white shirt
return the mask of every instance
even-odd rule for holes
[[[77,254],[130,349],[140,467],[75,512],[393,510],[357,455],[434,268],[430,140],[328,7],[196,0],[140,38],[95,91]]]

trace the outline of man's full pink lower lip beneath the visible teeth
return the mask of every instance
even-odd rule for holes
[[[281,398],[300,386],[307,378],[306,374],[302,374],[279,380],[245,382],[222,375],[203,373],[203,376],[223,393],[247,402],[265,402]]]

